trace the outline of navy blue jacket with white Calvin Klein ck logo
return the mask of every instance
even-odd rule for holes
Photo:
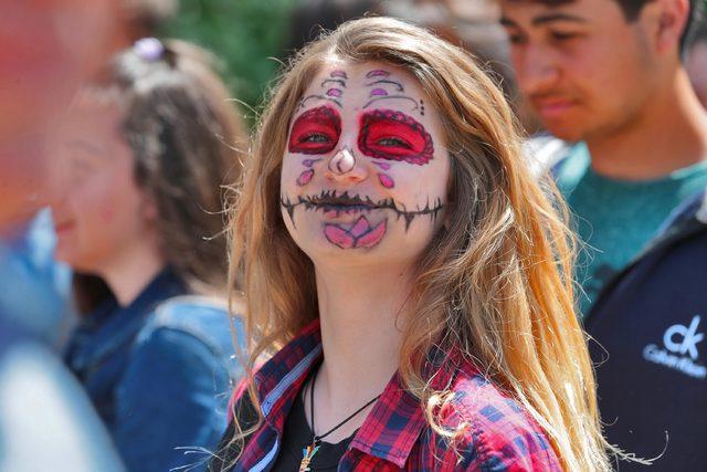
[[[584,318],[608,439],[642,458],[662,454],[652,471],[707,470],[706,315],[703,193],[673,213]]]

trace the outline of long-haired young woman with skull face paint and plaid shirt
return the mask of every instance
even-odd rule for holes
[[[307,46],[234,210],[251,358],[211,470],[608,470],[552,191],[462,50],[384,18]]]

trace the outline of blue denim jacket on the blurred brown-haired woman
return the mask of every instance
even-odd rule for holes
[[[224,307],[166,269],[126,307],[107,300],[74,333],[66,361],[131,471],[199,464],[226,427],[233,359]],[[239,325],[241,340],[242,327]]]

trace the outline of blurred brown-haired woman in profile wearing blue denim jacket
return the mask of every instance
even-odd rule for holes
[[[139,40],[56,138],[56,258],[82,318],[65,359],[130,471],[198,468],[183,448],[215,447],[236,377],[221,210],[246,135],[208,59]]]

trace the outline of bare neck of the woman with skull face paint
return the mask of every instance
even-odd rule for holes
[[[325,359],[315,392],[317,429],[366,405],[398,370],[405,301],[412,290],[409,274],[401,268],[317,268]],[[366,411],[341,434],[360,426],[365,416]]]

